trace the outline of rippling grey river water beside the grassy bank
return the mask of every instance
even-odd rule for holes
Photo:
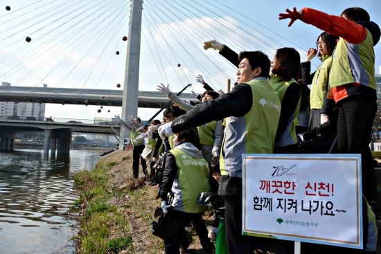
[[[73,174],[93,170],[101,152],[0,152],[0,253],[74,253],[76,224],[67,215],[78,193]]]

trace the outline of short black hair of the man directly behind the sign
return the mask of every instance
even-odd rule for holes
[[[241,62],[244,58],[249,60],[249,64],[251,65],[251,71],[260,67],[262,70],[260,72],[260,77],[267,78],[270,73],[270,60],[267,55],[261,51],[242,51],[240,55],[238,55],[238,62]]]

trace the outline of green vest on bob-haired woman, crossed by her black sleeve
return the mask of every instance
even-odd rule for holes
[[[283,101],[285,93],[292,83],[299,84],[293,78],[289,81],[284,81],[281,77],[272,76],[270,79],[270,84],[274,91],[278,94],[279,100]],[[298,117],[299,107],[301,104],[301,99],[299,98],[298,104],[295,107],[294,113],[291,118],[287,121],[287,127],[285,132],[282,134],[281,138],[278,140],[278,143],[275,144],[276,147],[284,147],[286,145],[293,145],[297,142],[296,139],[296,118]]]

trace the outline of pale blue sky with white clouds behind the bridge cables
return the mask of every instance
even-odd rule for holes
[[[69,6],[69,2],[73,5]],[[62,1],[18,0],[1,3],[1,81],[10,82],[12,86],[36,87],[44,82],[48,87],[85,89],[118,89],[116,84],[120,83],[123,90],[127,42],[121,38],[128,32],[128,1],[65,1],[67,6],[54,15],[53,9],[60,10]],[[278,20],[278,13],[284,12],[285,8],[310,7],[339,15],[345,8],[359,6],[369,12],[371,20],[381,25],[379,0],[320,0],[305,6],[306,3],[302,0],[226,0],[202,1],[199,4],[191,0],[145,0],[139,90],[156,91],[159,83],[168,82],[172,91],[179,91],[192,83],[193,86],[186,92],[202,93],[201,85],[195,82],[195,75],[198,74],[204,75],[213,88],[226,89],[228,78],[232,82],[236,80],[236,68],[215,51],[204,51],[203,42],[209,39],[218,39],[237,52],[261,50],[270,59],[276,48],[289,46],[296,48],[303,60],[305,51],[314,46],[321,30],[301,21],[288,28],[288,21]],[[94,6],[91,7],[91,4]],[[7,5],[10,11],[6,10]],[[96,15],[89,15],[96,10],[109,11],[109,17],[115,16],[96,23]],[[87,14],[80,15],[81,12]],[[39,13],[42,18],[38,17]],[[29,20],[21,25],[23,20],[30,18],[40,21],[33,24]],[[100,18],[103,16],[98,15]],[[89,25],[79,29],[74,24],[80,23],[81,19],[84,20],[82,23]],[[15,27],[15,24],[20,26]],[[26,43],[26,36],[30,36],[32,42]],[[70,36],[76,37],[71,41]],[[80,42],[83,42],[82,47]],[[375,73],[380,73],[380,47],[380,44],[375,46]],[[87,48],[91,48],[91,52]],[[46,63],[42,64],[43,61]],[[314,60],[313,64],[313,68],[317,68],[319,60]],[[121,114],[118,107],[104,107],[100,114],[97,109],[85,105],[46,105],[46,116],[92,119],[94,116],[111,118],[114,114]],[[139,109],[138,116],[147,120],[156,111]],[[161,119],[161,115],[158,118]]]

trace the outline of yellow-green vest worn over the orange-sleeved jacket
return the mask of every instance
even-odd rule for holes
[[[369,30],[366,39],[360,44],[348,44],[340,38],[333,51],[330,87],[359,83],[376,89],[374,63],[373,39]]]

